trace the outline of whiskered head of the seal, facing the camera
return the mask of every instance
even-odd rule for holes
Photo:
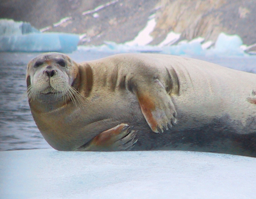
[[[77,96],[73,87],[77,64],[60,53],[42,54],[28,63],[26,82],[28,99],[42,102],[67,102]]]

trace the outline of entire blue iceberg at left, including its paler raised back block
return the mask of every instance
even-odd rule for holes
[[[0,51],[70,53],[79,40],[77,34],[41,33],[28,22],[0,19]]]

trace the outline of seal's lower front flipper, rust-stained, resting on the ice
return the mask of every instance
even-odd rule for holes
[[[119,124],[105,130],[89,143],[79,147],[78,151],[124,151],[133,148],[137,142],[137,131],[128,124]]]

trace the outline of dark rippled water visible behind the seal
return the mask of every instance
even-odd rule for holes
[[[50,148],[32,118],[26,98],[26,64],[39,53],[0,53],[0,150]],[[76,51],[77,61],[98,59],[110,53]],[[256,56],[197,57],[226,67],[256,73]]]

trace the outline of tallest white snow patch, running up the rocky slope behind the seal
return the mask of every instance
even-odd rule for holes
[[[144,29],[142,29],[138,35],[129,42],[126,42],[125,45],[127,46],[144,46],[152,42],[153,37],[149,34],[154,30],[156,25],[155,21],[155,14],[149,17],[149,21]]]

